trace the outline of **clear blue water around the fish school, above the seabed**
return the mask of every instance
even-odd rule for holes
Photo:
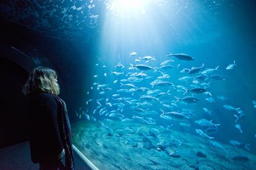
[[[95,47],[95,59],[91,63],[92,81],[90,84],[108,84],[111,91],[106,94],[98,94],[101,91],[87,89],[89,92],[88,99],[103,99],[100,103],[105,104],[105,99],[109,102],[116,103],[111,97],[116,94],[120,87],[120,79],[128,78],[126,73],[140,72],[141,70],[128,70],[130,63],[144,63],[151,67],[159,67],[164,60],[169,60],[169,52],[189,54],[195,58],[193,61],[183,61],[175,58],[175,62],[171,63],[173,69],[164,71],[171,76],[170,81],[175,86],[182,85],[190,89],[191,81],[184,82],[178,79],[182,76],[189,76],[186,73],[179,73],[183,68],[200,67],[204,63],[206,68],[215,68],[220,66],[215,74],[223,75],[225,80],[207,79],[205,83],[210,83],[208,91],[211,92],[215,102],[210,103],[205,100],[208,96],[204,94],[195,94],[200,102],[192,104],[178,103],[177,108],[166,108],[153,102],[154,107],[149,110],[158,111],[160,108],[164,111],[181,111],[182,108],[194,110],[195,118],[190,119],[190,127],[182,127],[179,121],[166,121],[159,116],[151,116],[158,125],[171,125],[172,129],[177,131],[185,131],[195,134],[195,129],[203,129],[194,123],[197,119],[213,119],[213,123],[221,124],[218,126],[218,132],[213,135],[216,140],[224,144],[230,144],[229,140],[237,140],[242,144],[250,144],[248,152],[256,154],[255,143],[255,114],[256,108],[252,100],[256,99],[255,86],[255,19],[252,17],[255,13],[252,8],[254,4],[248,2],[237,1],[159,1],[154,5],[150,5],[145,9],[145,14],[132,14],[124,12],[117,15],[120,11],[109,12],[105,9],[102,23],[98,26],[100,31],[99,43]],[[95,7],[96,10],[96,7]],[[132,9],[130,9],[132,10]],[[114,10],[113,10],[114,11]],[[122,17],[120,16],[122,15]],[[130,52],[137,52],[137,55],[130,57]],[[135,59],[150,55],[155,57],[155,61],[145,63],[136,63]],[[236,60],[237,66],[233,70],[226,70],[226,67]],[[115,65],[121,62],[125,68],[115,69]],[[98,64],[98,67],[95,65]],[[102,68],[106,65],[106,68]],[[179,68],[177,68],[179,65]],[[124,71],[124,75],[111,75],[111,71]],[[105,77],[103,74],[106,73]],[[148,87],[151,81],[161,74],[150,71],[143,71],[153,78],[143,80],[140,83],[132,83],[137,87]],[[98,75],[98,78],[93,78]],[[118,83],[114,84],[114,80]],[[203,81],[200,81],[202,83]],[[124,83],[125,84],[125,83]],[[128,88],[129,89],[129,88]],[[161,89],[161,88],[159,88]],[[163,92],[168,88],[161,89]],[[118,93],[117,93],[118,94]],[[145,92],[119,93],[119,97],[132,97],[139,99]],[[184,97],[182,92],[177,92],[177,88],[170,88],[170,94],[166,99],[171,104],[177,97]],[[189,93],[190,95],[192,93]],[[188,95],[189,95],[188,94]],[[217,96],[223,95],[227,99],[222,101]],[[245,116],[237,123],[234,123],[236,111],[226,110],[223,105],[232,105],[241,108]],[[98,106],[96,103],[89,105],[88,114]],[[103,106],[105,107],[105,106]],[[208,108],[212,115],[208,115],[203,111],[203,107]],[[107,110],[115,110],[117,107],[106,107]],[[96,111],[97,113],[97,111]],[[96,119],[109,118],[108,116],[98,116]],[[132,118],[136,113],[131,112],[129,105],[124,107],[122,114],[127,118]],[[235,124],[240,124],[242,133],[236,129]],[[231,144],[230,144],[231,145]]]

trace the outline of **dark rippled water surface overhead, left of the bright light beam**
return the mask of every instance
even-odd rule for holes
[[[88,41],[98,26],[100,4],[93,1],[35,1],[13,0],[0,2],[1,18],[19,23],[44,36]]]

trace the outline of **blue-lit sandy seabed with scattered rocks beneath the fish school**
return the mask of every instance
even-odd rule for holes
[[[134,122],[72,124],[73,144],[99,169],[256,169],[241,148],[184,132]],[[113,130],[113,132],[111,131]]]

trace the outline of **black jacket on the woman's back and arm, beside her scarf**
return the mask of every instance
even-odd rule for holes
[[[58,123],[58,104],[53,95],[34,93],[29,96],[30,152],[33,163],[59,158],[63,150]]]

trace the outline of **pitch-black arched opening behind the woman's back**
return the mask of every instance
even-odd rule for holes
[[[22,86],[28,72],[9,59],[0,58],[0,148],[28,139],[25,97]]]

